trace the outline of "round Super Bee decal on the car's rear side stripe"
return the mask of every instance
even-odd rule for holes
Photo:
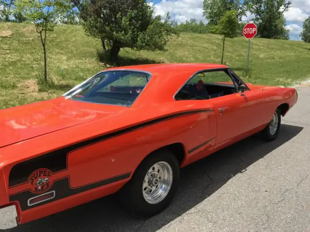
[[[42,168],[34,171],[28,182],[30,183],[30,190],[33,193],[42,193],[52,187],[52,172],[48,169]]]

